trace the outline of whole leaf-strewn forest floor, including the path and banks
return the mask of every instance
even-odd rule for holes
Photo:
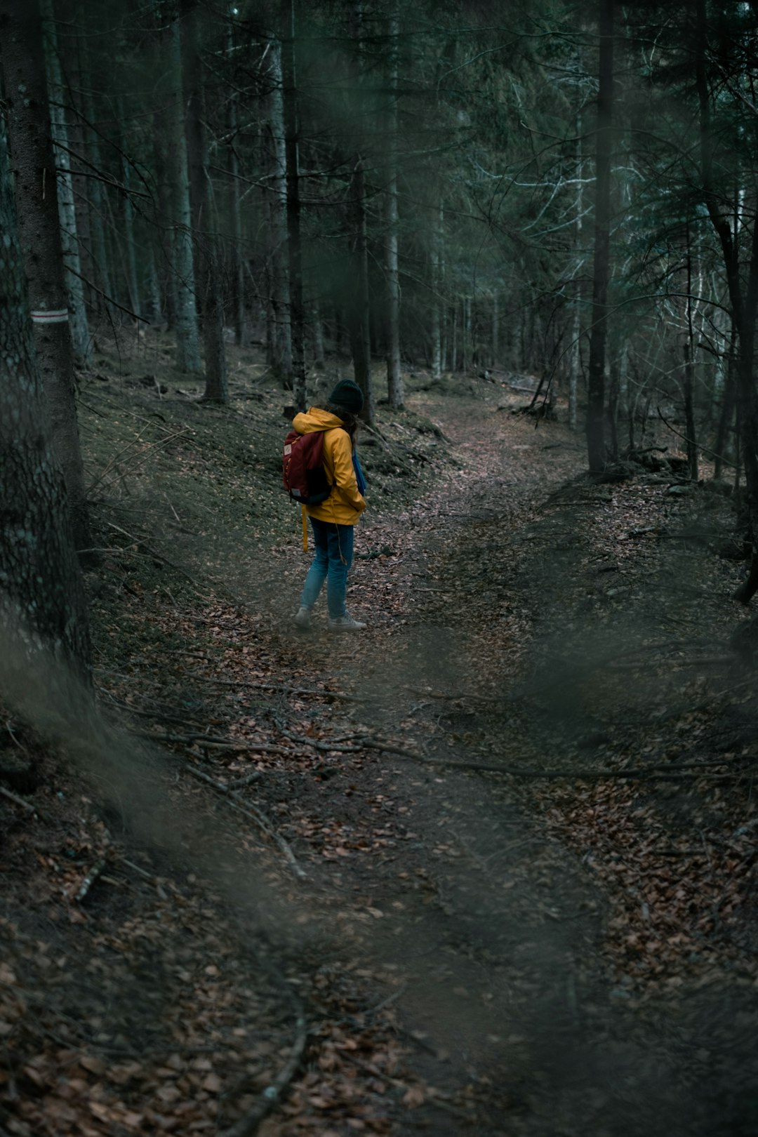
[[[164,349],[83,376],[99,712],[6,716],[0,1135],[755,1132],[728,500],[408,376],[367,630],[300,633],[284,400],[235,359],[230,409]]]

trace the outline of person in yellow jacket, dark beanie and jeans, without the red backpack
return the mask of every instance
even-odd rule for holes
[[[324,406],[310,407],[292,420],[298,434],[324,431],[324,470],[331,485],[326,500],[306,506],[316,555],[294,617],[297,626],[303,630],[310,628],[310,616],[324,581],[328,630],[356,632],[366,626],[353,620],[345,608],[353,529],[366,508],[363,496],[366,482],[356,455],[358,415],[363,406],[360,388],[352,380],[344,379],[336,384]]]

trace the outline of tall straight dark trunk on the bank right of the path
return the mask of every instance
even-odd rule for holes
[[[592,271],[592,330],[588,365],[586,447],[590,471],[606,463],[605,370],[610,275],[610,158],[614,102],[614,6],[599,0],[600,66],[598,136],[595,150],[594,265]]]

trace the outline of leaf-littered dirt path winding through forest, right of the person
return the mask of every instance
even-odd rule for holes
[[[430,407],[432,417],[441,409]],[[561,592],[564,647],[599,652],[602,620],[589,640],[572,637],[585,598],[577,600],[576,580],[561,580],[607,550],[591,532],[580,536],[570,508],[542,509],[582,455],[561,431],[535,432],[492,405],[461,404],[459,418],[441,424],[460,472],[409,515],[364,531],[364,547],[392,549],[355,574],[352,607],[369,631],[336,645],[316,632],[308,649],[322,679],[378,697],[352,716],[369,731],[427,758],[543,769],[560,756],[557,736],[565,749],[566,739],[607,730],[627,711],[602,692],[578,714],[567,709],[555,675],[547,709],[513,694],[544,659],[551,620],[540,607],[560,613]],[[585,512],[602,508],[606,493]],[[648,630],[655,605],[634,619]],[[552,624],[553,650],[555,632]],[[569,703],[575,695],[564,694]],[[535,713],[548,722],[535,723]],[[339,731],[344,722],[319,725]],[[320,808],[341,832],[365,832],[366,814],[378,814],[374,832],[398,849],[341,857],[323,887],[348,908],[355,949],[402,973],[395,1006],[403,1037],[418,1041],[411,1065],[473,1103],[468,1119],[409,1112],[399,1132],[748,1131],[755,1054],[743,1039],[744,1065],[725,1078],[722,1047],[750,980],[707,990],[695,982],[686,998],[639,998],[628,976],[619,984],[603,949],[613,896],[559,839],[560,827],[545,823],[549,791],[532,810],[501,778],[383,754],[359,777],[338,771],[325,796]],[[372,919],[355,919],[366,911]]]

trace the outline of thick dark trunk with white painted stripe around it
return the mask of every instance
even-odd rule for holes
[[[52,447],[68,493],[74,541],[77,549],[89,549],[92,541],[74,399],[74,356],[57,201],[60,183],[56,179],[50,141],[36,0],[13,6],[13,15],[3,23],[0,35],[0,60],[36,365],[53,424]]]

